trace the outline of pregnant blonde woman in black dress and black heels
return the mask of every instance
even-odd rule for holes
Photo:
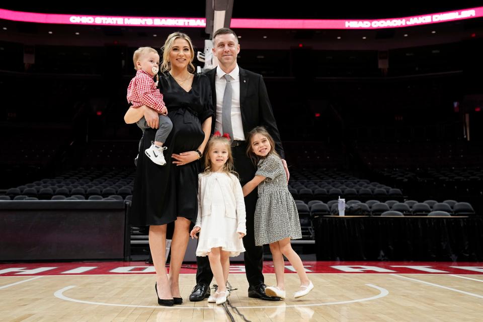
[[[188,246],[189,227],[198,213],[198,173],[211,131],[212,100],[208,77],[193,74],[193,45],[183,33],[168,36],[163,47],[159,90],[173,122],[165,146],[166,165],[158,166],[144,154],[154,141],[157,112],[147,106],[130,108],[124,120],[145,117],[139,149],[130,224],[149,226],[149,248],[156,269],[158,303],[181,304],[179,273]],[[166,273],[166,238],[172,238],[169,275]]]

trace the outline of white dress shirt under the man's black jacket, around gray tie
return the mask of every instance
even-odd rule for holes
[[[226,73],[220,68],[216,67],[215,86],[216,86],[216,121],[215,132],[220,131],[223,134],[223,127],[221,126],[221,108],[223,106],[223,94],[225,93],[226,81],[223,76]],[[245,140],[245,134],[243,132],[243,123],[241,123],[241,110],[240,110],[240,68],[238,64],[228,74],[231,76],[230,82],[232,87],[231,94],[231,129],[233,130],[233,140]]]

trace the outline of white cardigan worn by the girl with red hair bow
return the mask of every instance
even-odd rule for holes
[[[230,180],[217,180],[216,176],[211,173],[200,173],[198,175],[198,217],[196,218],[195,227],[201,227],[201,219],[204,216],[211,214],[211,199],[213,198],[214,181],[218,181],[223,193],[223,200],[225,203],[225,216],[229,218],[236,218],[237,232],[247,233],[246,227],[246,212],[245,200],[243,191],[241,190],[240,182],[233,174],[227,174]]]

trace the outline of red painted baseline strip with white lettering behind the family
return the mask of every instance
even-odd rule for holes
[[[308,273],[401,273],[401,274],[483,274],[480,262],[304,262]],[[266,261],[264,273],[275,273]],[[196,263],[183,264],[182,274],[195,274]],[[243,263],[230,265],[230,273],[245,273]],[[285,273],[295,273],[286,262]],[[0,264],[0,276],[119,275],[154,274],[154,266],[144,262],[75,262]]]

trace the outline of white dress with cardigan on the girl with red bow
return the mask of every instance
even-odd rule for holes
[[[245,252],[238,232],[247,233],[243,191],[233,174],[202,173],[198,176],[198,218],[201,227],[196,256],[221,247],[230,257]]]

